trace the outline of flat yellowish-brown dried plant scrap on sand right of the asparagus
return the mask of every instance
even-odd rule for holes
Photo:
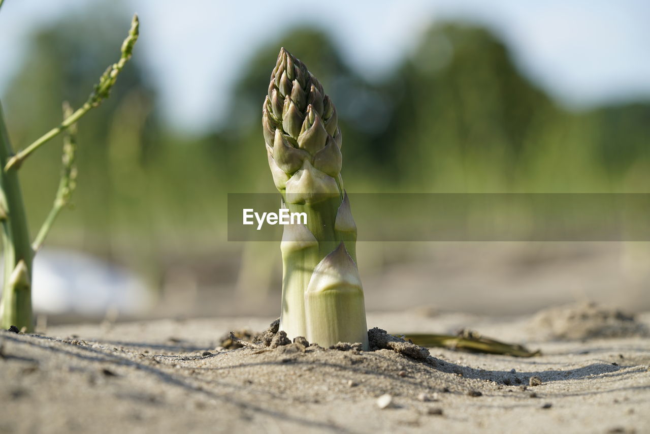
[[[513,357],[534,357],[541,354],[539,350],[529,351],[519,344],[486,338],[476,331],[467,329],[461,329],[456,335],[408,333],[404,338],[423,347],[443,347],[471,353],[502,354]]]

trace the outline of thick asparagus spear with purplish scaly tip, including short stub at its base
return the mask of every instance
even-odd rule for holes
[[[284,226],[280,329],[331,346],[368,344],[356,225],[341,178],[336,109],[307,67],[282,48],[262,107],[268,165],[291,212]]]

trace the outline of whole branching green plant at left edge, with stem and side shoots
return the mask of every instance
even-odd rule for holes
[[[2,3],[3,0],[0,0],[0,7]],[[0,327],[3,329],[11,326],[25,331],[32,331],[33,329],[32,261],[34,254],[43,245],[57,215],[70,202],[70,197],[75,189],[77,174],[74,163],[75,122],[109,97],[110,89],[115,84],[120,71],[122,71],[126,62],[131,59],[133,46],[138,38],[138,26],[138,17],[133,16],[129,35],[122,44],[120,60],[110,65],[101,75],[99,83],[95,85],[88,100],[76,111],[65,105],[63,122],[15,155],[0,107],[0,220],[3,228],[3,250],[5,254],[5,278],[0,301]],[[18,180],[18,169],[23,161],[31,156],[35,150],[61,133],[65,133],[65,135],[59,189],[52,210],[38,231],[36,239],[32,242],[29,236],[27,213],[25,212]]]

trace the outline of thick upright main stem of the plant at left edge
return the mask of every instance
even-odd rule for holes
[[[0,107],[0,165],[13,154],[5,118]],[[25,204],[18,172],[0,171],[0,207],[2,209],[5,278],[0,300],[0,327],[32,330],[31,271],[34,252],[27,228]]]

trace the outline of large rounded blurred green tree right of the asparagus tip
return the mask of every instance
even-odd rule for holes
[[[462,25],[432,27],[385,92],[397,109],[383,147],[421,191],[498,190],[556,115],[495,36]]]

